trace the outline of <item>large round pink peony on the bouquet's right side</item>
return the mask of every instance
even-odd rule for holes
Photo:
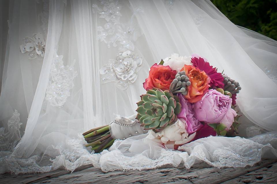
[[[210,89],[201,101],[194,104],[194,116],[199,120],[207,123],[222,123],[229,129],[237,115],[231,109],[232,99],[228,95]],[[231,117],[233,116],[233,117]],[[230,125],[231,124],[231,125]]]

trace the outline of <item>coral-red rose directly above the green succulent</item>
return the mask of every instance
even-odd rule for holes
[[[152,89],[153,87],[161,90],[169,90],[169,86],[175,75],[177,74],[176,70],[171,70],[169,66],[163,66],[160,64],[154,64],[151,66],[149,71],[149,76],[145,79],[143,83],[144,89]]]

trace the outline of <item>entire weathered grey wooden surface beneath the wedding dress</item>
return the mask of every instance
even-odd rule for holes
[[[8,176],[3,175],[5,183],[276,183],[277,160],[263,160],[253,167],[246,168],[222,168],[210,167],[205,163],[197,164],[190,169],[172,166],[165,166],[153,170],[142,171],[112,171],[102,172],[98,168],[85,166],[74,173],[59,170],[39,175]],[[262,176],[262,177],[261,177]]]

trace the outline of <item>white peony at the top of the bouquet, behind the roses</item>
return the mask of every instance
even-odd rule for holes
[[[170,57],[166,57],[164,60],[164,66],[169,66],[172,70],[180,71],[184,65],[191,65],[190,62],[191,57],[188,56],[180,56],[179,54],[173,53]]]

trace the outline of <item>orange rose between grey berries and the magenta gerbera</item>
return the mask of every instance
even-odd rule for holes
[[[184,65],[180,71],[185,71],[190,78],[191,85],[188,86],[188,94],[185,95],[190,103],[197,102],[209,90],[211,78],[204,72],[192,65]]]

